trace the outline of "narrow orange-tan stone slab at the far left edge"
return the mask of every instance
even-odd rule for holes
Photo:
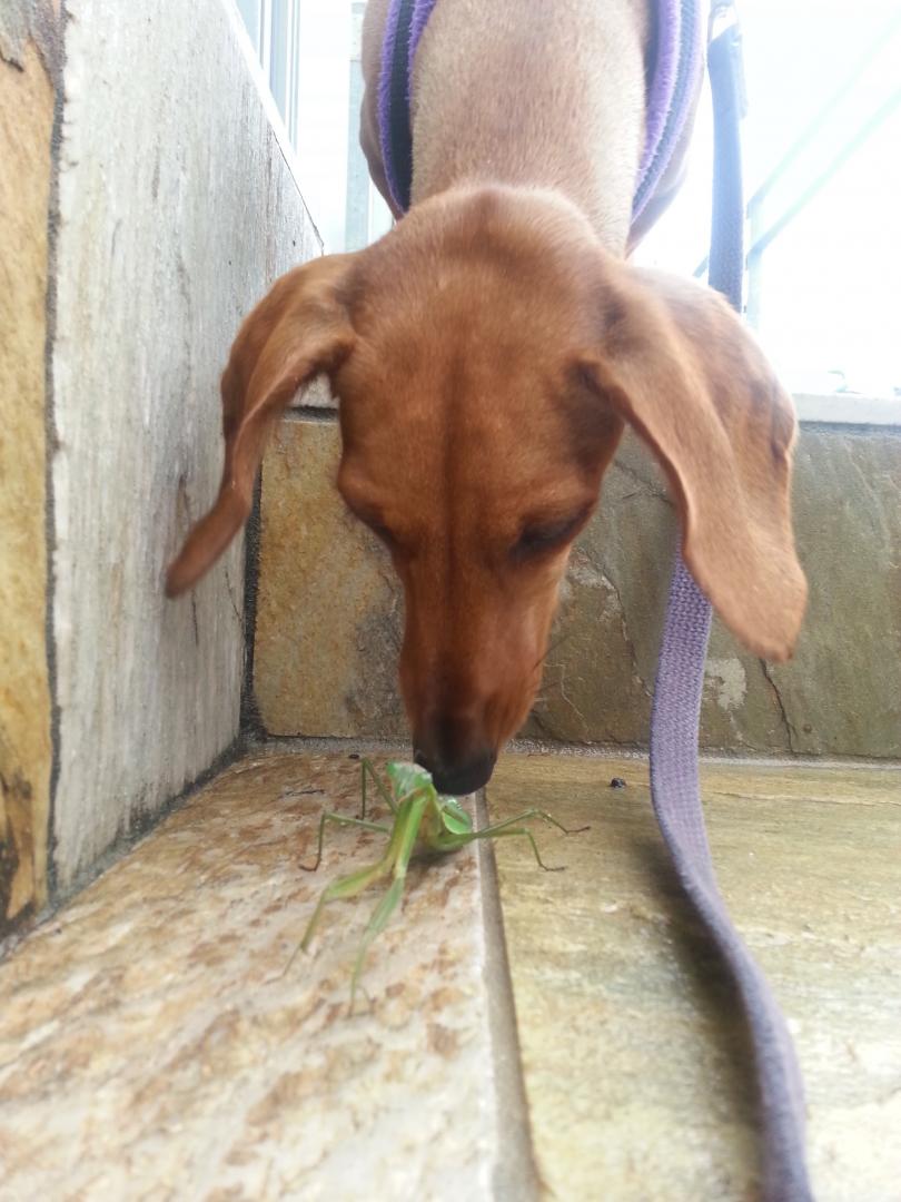
[[[0,60],[0,939],[47,897],[46,298],[55,89],[18,4]],[[37,19],[37,13],[31,12]],[[46,18],[46,12],[43,13]]]

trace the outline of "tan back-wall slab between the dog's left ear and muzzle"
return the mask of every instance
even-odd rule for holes
[[[263,462],[253,692],[270,734],[404,736],[402,599],[335,489],[334,422],[281,423]]]

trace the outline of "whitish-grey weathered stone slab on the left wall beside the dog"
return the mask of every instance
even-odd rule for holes
[[[66,30],[53,350],[64,887],[238,733],[241,543],[178,603],[162,573],[216,492],[219,375],[238,323],[317,249],[231,4],[70,0]]]

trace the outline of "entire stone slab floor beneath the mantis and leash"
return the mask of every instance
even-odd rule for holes
[[[901,1198],[899,785],[705,767],[723,891],[798,1042],[821,1202]],[[520,839],[499,880],[485,849],[416,865],[348,1014],[377,887],[287,965],[323,883],[377,858],[380,834],[342,828],[298,868],[322,809],[358,796],[346,754],[259,751],[0,965],[0,1200],[752,1200],[747,1049],[645,764],[507,757],[490,816],[589,823],[536,831],[567,871]]]

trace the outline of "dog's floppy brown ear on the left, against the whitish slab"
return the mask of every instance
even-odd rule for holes
[[[353,331],[341,298],[352,255],[317,258],[284,275],[245,320],[222,374],[222,483],[166,575],[166,593],[190,589],[250,514],[269,427],[297,389],[347,356]]]

